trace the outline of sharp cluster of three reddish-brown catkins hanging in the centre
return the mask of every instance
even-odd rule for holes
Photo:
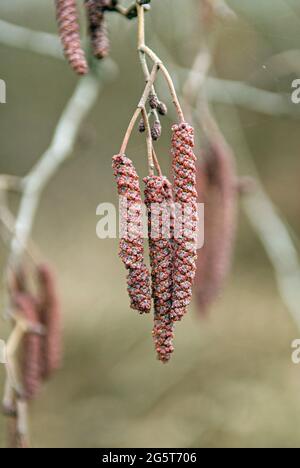
[[[140,311],[154,303],[153,339],[158,359],[168,362],[174,351],[174,326],[186,312],[192,297],[196,271],[197,190],[196,157],[193,153],[194,130],[187,123],[173,127],[173,186],[162,175],[144,179],[145,205],[148,219],[150,275],[144,263],[142,238],[141,193],[139,177],[132,161],[124,155],[113,158],[118,193],[125,199],[125,224],[133,225],[134,238],[120,241],[120,256],[129,271],[143,271],[143,282],[135,277],[129,282],[133,308]],[[175,202],[175,203],[174,203]],[[130,208],[134,209],[130,213]],[[124,219],[124,213],[121,213]],[[138,279],[138,281],[137,281]],[[143,294],[141,294],[141,291]],[[143,307],[140,307],[140,304]],[[137,307],[136,304],[139,306]]]

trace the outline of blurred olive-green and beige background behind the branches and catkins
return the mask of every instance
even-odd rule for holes
[[[199,47],[199,2],[153,0],[149,43],[157,38],[174,61],[190,67]],[[214,69],[222,78],[289,93],[293,73],[264,67],[295,49],[297,0],[231,0],[239,19],[219,26]],[[0,18],[56,33],[54,2],[2,0]],[[130,310],[117,240],[96,237],[96,207],[116,202],[111,157],[119,150],[140,97],[135,22],[111,15],[111,56],[119,75],[105,85],[81,128],[73,158],[45,190],[34,240],[55,266],[64,311],[65,360],[31,408],[36,447],[300,447],[299,338],[283,306],[259,240],[241,212],[232,275],[222,298],[201,320],[191,307],[177,327],[176,352],[155,359],[150,318]],[[165,57],[165,51],[160,54]],[[0,173],[24,175],[47,148],[77,78],[64,61],[0,43]],[[226,106],[215,111],[238,158]],[[299,217],[299,122],[238,110],[264,186],[295,236]],[[159,144],[169,163],[170,121]],[[201,140],[201,135],[200,135]],[[130,156],[146,175],[145,145],[135,135]],[[17,198],[11,204],[17,206]],[[276,233],[274,233],[276,235]],[[7,249],[1,246],[4,268]],[[8,328],[1,323],[0,337]],[[0,386],[4,369],[0,368]],[[0,418],[0,446],[5,421]]]

